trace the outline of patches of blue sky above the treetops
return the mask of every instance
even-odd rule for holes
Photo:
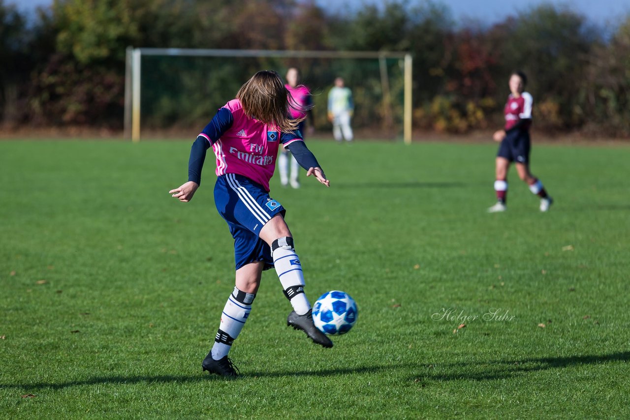
[[[37,6],[46,6],[52,0],[5,0],[6,3],[16,4],[23,11],[30,11]],[[359,8],[366,3],[382,3],[377,0],[317,0],[322,6],[330,9],[340,9],[348,7],[350,9]],[[515,14],[518,11],[537,6],[541,3],[552,3],[557,5],[570,5],[578,13],[588,16],[592,23],[598,25],[617,25],[621,20],[630,14],[629,0],[442,0],[442,3],[449,6],[455,20],[461,22],[465,20],[478,20],[484,24],[492,24],[503,20],[505,16]]]

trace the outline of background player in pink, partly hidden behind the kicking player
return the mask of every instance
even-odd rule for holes
[[[301,109],[291,109],[291,116],[295,120],[301,120],[297,129],[304,136],[304,125],[306,123],[306,116],[309,117],[311,128],[314,127],[314,118],[311,110],[312,101],[311,101],[311,93],[309,89],[303,84],[299,84],[300,82],[300,72],[295,67],[290,67],[287,70],[287,84],[284,85],[285,88],[289,91],[295,103],[300,106]],[[290,171],[289,171],[289,161]],[[280,155],[278,156],[278,169],[280,169],[280,184],[282,186],[287,186],[290,184],[292,188],[300,188],[300,183],[298,180],[298,174],[300,171],[299,166],[297,166],[297,161],[295,157],[289,156],[289,150],[284,149],[280,150]]]

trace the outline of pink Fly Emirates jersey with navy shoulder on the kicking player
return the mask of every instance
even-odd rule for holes
[[[269,191],[275,170],[278,144],[303,141],[299,131],[280,133],[265,123],[245,115],[241,101],[232,99],[217,111],[199,136],[212,145],[217,157],[217,176],[239,174]]]

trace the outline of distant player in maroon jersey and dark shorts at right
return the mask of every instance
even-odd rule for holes
[[[507,173],[510,163],[514,162],[518,178],[529,185],[529,190],[541,198],[540,210],[546,212],[553,203],[547,195],[540,179],[529,171],[530,137],[529,127],[532,125],[532,106],[534,98],[525,92],[527,77],[523,72],[513,72],[510,76],[510,91],[505,104],[505,129],[493,135],[496,142],[501,142],[496,154],[496,204],[488,208],[488,212],[505,212],[507,210]]]

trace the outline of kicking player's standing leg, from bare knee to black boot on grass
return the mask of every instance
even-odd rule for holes
[[[254,261],[236,270],[236,287],[223,308],[214,346],[202,362],[204,371],[223,377],[238,376],[227,354],[249,317],[264,266],[264,261]]]

